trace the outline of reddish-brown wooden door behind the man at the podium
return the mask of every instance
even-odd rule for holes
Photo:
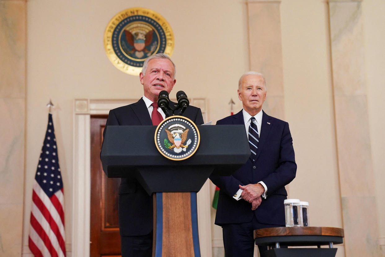
[[[100,148],[107,116],[91,116],[90,256],[121,256],[118,189],[120,178],[107,178]]]

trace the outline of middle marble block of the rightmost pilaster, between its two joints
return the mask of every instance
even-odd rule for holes
[[[365,96],[335,96],[341,196],[372,196],[374,174]]]

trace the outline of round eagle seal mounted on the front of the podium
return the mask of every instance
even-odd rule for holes
[[[156,128],[155,145],[158,151],[174,161],[191,157],[199,146],[197,126],[183,116],[164,119]]]

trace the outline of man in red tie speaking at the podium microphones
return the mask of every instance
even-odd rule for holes
[[[111,125],[159,124],[165,114],[154,103],[157,103],[160,91],[171,92],[176,82],[175,71],[175,64],[165,54],[147,58],[139,74],[144,96],[134,104],[110,110],[105,128]],[[170,101],[170,105],[175,108],[177,103]],[[194,106],[189,106],[179,115],[198,125],[203,124],[201,109]],[[127,178],[122,178],[119,186],[119,229],[123,257],[152,256],[152,208],[152,196],[138,183],[135,174],[129,173]]]

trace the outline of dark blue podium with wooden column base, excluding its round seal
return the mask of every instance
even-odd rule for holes
[[[156,149],[156,126],[108,126],[100,154],[109,178],[135,174],[154,198],[152,256],[200,256],[196,193],[211,173],[231,175],[250,148],[243,125],[197,126],[193,156],[174,161]]]

